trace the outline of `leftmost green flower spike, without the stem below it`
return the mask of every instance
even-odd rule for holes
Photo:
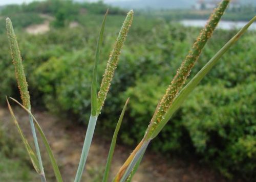
[[[7,30],[7,36],[9,38],[11,57],[12,57],[13,65],[15,67],[15,75],[16,75],[19,92],[20,92],[20,97],[22,98],[23,105],[27,109],[31,109],[28,83],[26,81],[26,76],[24,73],[23,65],[22,65],[22,57],[20,56],[18,42],[16,40],[16,36],[14,34],[14,30],[13,30],[12,22],[10,18],[6,18],[6,30]]]

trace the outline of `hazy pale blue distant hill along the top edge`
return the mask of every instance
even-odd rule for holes
[[[112,0],[111,2],[105,2],[125,9],[190,9],[196,4],[197,0]],[[256,6],[255,0],[240,0],[240,3]]]

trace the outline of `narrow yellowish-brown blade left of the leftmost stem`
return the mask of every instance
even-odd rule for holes
[[[7,105],[8,105],[9,111],[10,111],[10,113],[11,113],[11,115],[12,115],[12,119],[13,119],[13,121],[14,121],[14,123],[15,123],[17,129],[18,129],[18,133],[19,133],[20,137],[22,137],[22,141],[23,141],[23,143],[25,144],[25,147],[26,147],[27,152],[28,152],[28,154],[29,154],[30,160],[31,160],[31,162],[32,162],[32,164],[33,164],[33,166],[34,166],[34,168],[35,168],[35,171],[36,171],[38,174],[40,174],[40,167],[39,167],[38,159],[37,159],[37,157],[36,157],[34,151],[32,150],[31,146],[29,145],[29,143],[28,143],[28,141],[27,141],[25,135],[23,134],[22,129],[19,127],[19,124],[18,124],[18,122],[17,122],[17,120],[16,120],[16,118],[15,118],[15,115],[14,115],[14,113],[13,113],[13,110],[12,110],[11,105],[10,105],[10,103],[9,103],[9,101],[8,101],[7,98],[6,98],[6,100],[7,100]]]

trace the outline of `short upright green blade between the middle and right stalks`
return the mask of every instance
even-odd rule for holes
[[[127,103],[129,102],[129,98],[126,100],[125,105],[123,107],[123,110],[121,112],[121,115],[118,119],[116,128],[115,128],[115,132],[111,141],[111,145],[110,145],[110,151],[109,151],[109,155],[108,155],[108,159],[106,160],[106,166],[105,166],[105,172],[104,172],[104,176],[102,179],[102,182],[107,182],[108,181],[108,177],[109,177],[109,172],[110,172],[110,166],[111,166],[111,161],[113,158],[113,154],[114,154],[114,150],[115,150],[115,146],[116,146],[116,139],[117,139],[117,135],[123,120],[123,115],[127,106]]]

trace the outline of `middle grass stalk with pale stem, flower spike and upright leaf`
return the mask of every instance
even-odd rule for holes
[[[106,12],[106,14],[108,11]],[[104,101],[106,98],[106,95],[108,94],[111,81],[114,76],[114,71],[117,67],[119,55],[121,53],[121,48],[123,46],[123,43],[125,41],[125,38],[127,36],[127,33],[129,31],[129,28],[131,27],[132,20],[133,20],[133,11],[130,11],[127,13],[127,16],[123,22],[122,28],[118,34],[118,37],[116,39],[116,42],[114,44],[114,48],[111,51],[110,58],[108,60],[105,73],[103,75],[103,79],[101,82],[101,87],[98,93],[98,96],[96,98],[97,93],[97,65],[99,62],[99,53],[100,53],[100,47],[102,44],[102,37],[104,32],[104,25],[106,20],[106,14],[103,19],[102,25],[101,25],[101,31],[99,34],[99,38],[97,41],[97,48],[96,48],[96,56],[95,56],[95,65],[93,70],[93,81],[92,81],[92,88],[91,88],[91,116],[87,128],[86,137],[84,139],[81,158],[79,161],[78,169],[76,172],[75,182],[78,182],[81,180],[82,172],[84,170],[84,166],[86,165],[88,153],[90,150],[90,146],[92,143],[92,138],[94,134],[94,129],[96,126],[98,115],[100,114],[100,111],[102,109],[102,106],[104,105]]]

